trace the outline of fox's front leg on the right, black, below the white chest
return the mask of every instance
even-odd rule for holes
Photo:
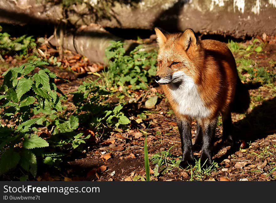
[[[200,123],[202,123],[203,131],[200,162],[205,163],[205,161],[207,160],[206,164],[211,165],[213,156],[213,140],[215,136],[217,118]]]

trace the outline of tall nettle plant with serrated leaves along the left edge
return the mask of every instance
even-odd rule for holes
[[[34,61],[11,68],[3,76],[1,86],[0,173],[20,164],[33,176],[37,172],[36,156],[32,149],[47,147],[38,137],[39,126],[47,116],[61,111],[56,75],[43,67],[47,62]],[[8,160],[8,161],[7,161]]]

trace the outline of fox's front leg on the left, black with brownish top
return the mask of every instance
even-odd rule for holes
[[[178,120],[178,129],[181,138],[182,161],[181,166],[194,163],[194,154],[192,151],[191,122],[188,119]]]

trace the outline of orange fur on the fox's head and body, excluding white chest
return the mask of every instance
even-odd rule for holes
[[[162,35],[159,31],[156,75],[164,77],[183,71],[191,77],[205,107],[211,112],[209,117],[201,119],[214,119],[219,112],[229,112],[238,74],[235,59],[226,44],[209,39],[196,41],[190,29],[183,34],[168,35]],[[179,63],[172,65],[173,62]],[[171,95],[171,84],[164,84],[162,88],[176,116],[187,117],[179,112],[178,104]]]

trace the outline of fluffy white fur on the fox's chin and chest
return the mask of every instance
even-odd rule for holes
[[[182,84],[180,86],[172,84],[170,93],[178,105],[178,112],[194,118],[209,117],[210,110],[205,107],[193,79],[183,72],[180,77],[178,72],[177,80],[182,80]]]

